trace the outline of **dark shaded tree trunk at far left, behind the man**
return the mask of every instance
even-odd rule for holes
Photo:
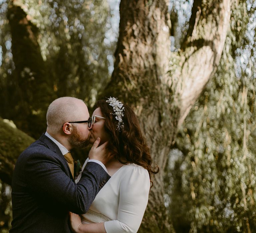
[[[7,108],[0,110],[0,115],[12,119],[18,128],[37,138],[46,129],[46,110],[54,100],[53,84],[47,76],[37,42],[38,29],[16,2],[10,4],[7,12],[15,65],[7,87],[13,95],[8,99]]]

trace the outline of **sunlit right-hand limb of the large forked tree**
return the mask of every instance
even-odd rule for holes
[[[180,95],[178,100],[181,103],[178,125],[181,125],[206,83],[216,71],[229,29],[230,5],[230,0],[219,1],[216,4],[209,2],[209,6],[204,6],[204,8],[201,6],[202,13],[199,20],[194,19],[195,22],[197,21],[197,27],[196,30],[193,29],[191,37],[187,37],[187,47],[184,49],[187,59],[179,74],[183,78],[179,79],[176,90],[176,93]],[[199,41],[201,41],[200,49],[195,46]]]

